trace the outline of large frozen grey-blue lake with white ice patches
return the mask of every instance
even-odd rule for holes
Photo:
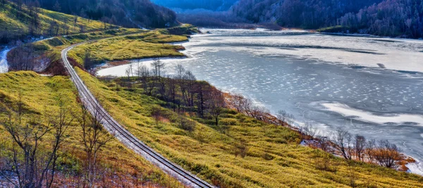
[[[165,59],[227,92],[244,94],[273,113],[286,110],[322,134],[345,127],[388,139],[423,162],[423,41],[345,37],[286,30],[207,30]],[[143,61],[149,65],[150,61]],[[124,75],[127,65],[99,75]],[[410,165],[423,172],[422,163]]]

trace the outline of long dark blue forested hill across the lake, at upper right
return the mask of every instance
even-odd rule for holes
[[[423,37],[423,0],[240,0],[231,14],[283,27]]]

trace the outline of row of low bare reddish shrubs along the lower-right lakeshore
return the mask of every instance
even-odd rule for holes
[[[228,103],[239,113],[244,113],[257,120],[266,123],[281,125],[298,130],[302,135],[302,140],[309,146],[317,147],[325,152],[334,153],[348,161],[363,161],[375,163],[387,168],[398,167],[398,162],[405,158],[401,150],[386,139],[366,139],[360,134],[350,134],[343,128],[338,128],[331,132],[329,136],[321,136],[319,130],[312,123],[293,126],[295,124],[294,115],[286,111],[278,111],[271,115],[270,111],[261,106],[255,106],[251,99],[246,99],[240,94],[234,94]],[[329,161],[326,161],[329,162]],[[326,169],[328,170],[328,169]]]

